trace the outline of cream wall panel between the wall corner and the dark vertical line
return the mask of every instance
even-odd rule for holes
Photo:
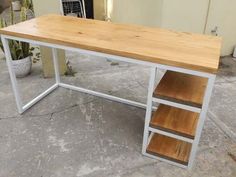
[[[203,33],[207,10],[208,0],[164,0],[162,27]]]

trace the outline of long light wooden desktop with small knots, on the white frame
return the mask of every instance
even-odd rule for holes
[[[0,34],[216,73],[221,38],[160,28],[47,15]]]

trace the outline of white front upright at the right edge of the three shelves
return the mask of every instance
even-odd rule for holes
[[[190,154],[190,158],[189,158],[189,164],[188,164],[189,168],[192,168],[193,162],[194,162],[194,159],[196,156],[196,152],[197,152],[198,144],[200,141],[202,129],[204,126],[204,122],[206,120],[206,114],[207,114],[212,90],[214,87],[215,78],[216,78],[215,75],[210,75],[208,78],[207,88],[206,88],[206,92],[205,92],[205,96],[204,96],[204,100],[203,100],[203,105],[202,105],[202,111],[200,113],[200,117],[199,117],[199,121],[198,121],[198,125],[197,125],[196,136],[195,136],[194,142],[192,144],[192,150],[191,150],[191,154]]]

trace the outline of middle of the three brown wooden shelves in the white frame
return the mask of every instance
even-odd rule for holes
[[[153,114],[150,127],[194,139],[198,113],[160,105]]]

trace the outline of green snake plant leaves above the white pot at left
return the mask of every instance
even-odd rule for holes
[[[30,7],[30,2],[31,0],[24,0],[24,4],[26,6],[22,6],[21,8],[21,12],[20,12],[20,20],[21,22],[24,22],[27,20],[27,8]],[[31,2],[32,4],[32,2]],[[14,18],[15,18],[15,14],[14,11],[12,10],[12,6],[10,7],[10,24],[9,25],[14,25]],[[1,18],[0,19],[0,28],[5,28],[7,27],[8,24],[6,22],[5,19]],[[26,58],[28,56],[33,56],[33,51],[35,48],[30,48],[30,44],[26,43],[26,42],[20,42],[20,41],[14,41],[14,40],[9,40],[9,47],[10,47],[10,51],[11,51],[11,56],[13,60],[20,60],[23,58]],[[4,52],[3,49],[3,44],[0,41],[0,48],[2,49],[2,51]],[[40,54],[36,54],[33,59],[33,61],[36,61],[39,59]]]

